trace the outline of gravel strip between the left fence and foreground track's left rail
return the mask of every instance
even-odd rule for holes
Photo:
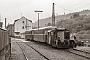
[[[11,47],[11,60],[25,60],[23,53],[17,43],[12,42]]]

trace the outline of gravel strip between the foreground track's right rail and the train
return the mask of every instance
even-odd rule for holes
[[[46,57],[48,57],[49,58],[49,60],[53,60],[54,58],[56,58],[55,60],[74,60],[74,59],[78,59],[78,60],[85,60],[86,58],[84,58],[84,57],[81,57],[81,56],[78,56],[78,55],[75,55],[75,54],[72,54],[72,53],[69,53],[69,52],[67,52],[67,51],[65,51],[65,49],[56,49],[56,48],[51,48],[51,46],[47,46],[47,45],[44,45],[44,44],[38,44],[38,46],[37,47],[35,47],[35,46],[33,46],[32,45],[32,43],[25,43],[25,44],[28,44],[28,45],[30,45],[30,46],[32,46],[33,48],[37,48],[38,46],[41,46],[41,47],[39,47],[37,50],[38,51],[40,51],[42,54],[44,54]],[[50,54],[48,53],[48,55],[47,55],[47,53],[45,53],[46,52],[46,50],[44,50],[44,52],[42,52],[41,50],[43,50],[43,49],[41,49],[43,47],[43,49],[47,49],[47,50],[49,50],[49,52],[51,52]],[[66,55],[65,55],[65,53],[66,53]],[[56,55],[56,56],[54,56],[54,55]],[[69,55],[71,55],[71,56],[73,56],[72,58],[69,56]],[[66,57],[65,57],[66,56]],[[77,57],[76,57],[77,56]],[[51,58],[51,57],[53,57],[53,58]],[[59,58],[60,57],[60,58]],[[70,57],[70,58],[69,58]],[[84,59],[83,59],[84,58]],[[87,59],[88,60],[88,59]]]

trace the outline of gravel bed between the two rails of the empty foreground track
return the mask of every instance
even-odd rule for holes
[[[19,42],[22,49],[25,50],[26,56],[28,60],[46,60],[43,56],[41,56],[39,53],[34,51],[32,48],[27,46],[26,44]]]

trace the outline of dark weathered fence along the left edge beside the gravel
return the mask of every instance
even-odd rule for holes
[[[0,28],[0,60],[10,60],[11,39],[7,30]]]

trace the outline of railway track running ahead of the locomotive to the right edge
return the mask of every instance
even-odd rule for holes
[[[77,50],[77,49],[68,49],[65,51],[72,53],[72,54],[76,54],[78,56],[81,56],[81,57],[84,57],[87,59],[90,59],[90,53],[89,52],[85,52],[85,51],[81,51],[81,50]]]

